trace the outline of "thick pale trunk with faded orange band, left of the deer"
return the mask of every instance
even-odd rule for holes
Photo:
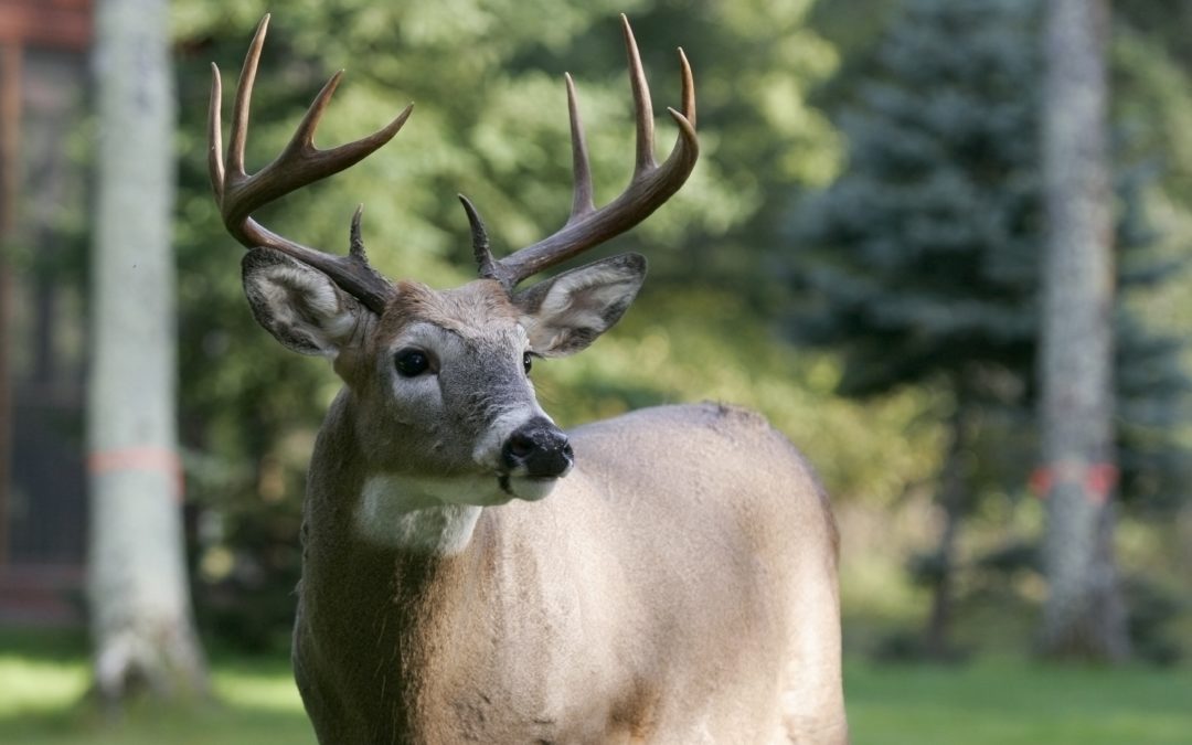
[[[167,0],[97,6],[99,108],[88,380],[95,689],[205,691],[191,620],[175,432]]]

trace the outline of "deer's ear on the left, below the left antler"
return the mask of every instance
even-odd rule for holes
[[[250,249],[241,267],[256,322],[294,352],[335,358],[372,312],[327,274],[281,252]]]

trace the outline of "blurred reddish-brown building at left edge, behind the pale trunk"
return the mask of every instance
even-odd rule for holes
[[[0,2],[0,622],[82,616],[92,0]]]

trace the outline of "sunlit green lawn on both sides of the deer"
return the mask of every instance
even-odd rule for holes
[[[81,641],[0,637],[0,743],[303,745],[315,741],[283,659],[219,656],[215,701],[136,706],[108,720],[77,706]],[[845,670],[856,745],[1162,745],[1192,741],[1192,670],[1053,668],[1000,658],[966,666]]]

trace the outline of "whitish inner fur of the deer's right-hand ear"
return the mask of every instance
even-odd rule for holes
[[[621,317],[621,312],[613,309],[620,305],[623,311],[640,284],[640,277],[626,274],[623,268],[615,266],[595,265],[586,271],[559,275],[538,311],[521,318],[530,348],[546,354],[564,346],[578,329],[604,333]]]

